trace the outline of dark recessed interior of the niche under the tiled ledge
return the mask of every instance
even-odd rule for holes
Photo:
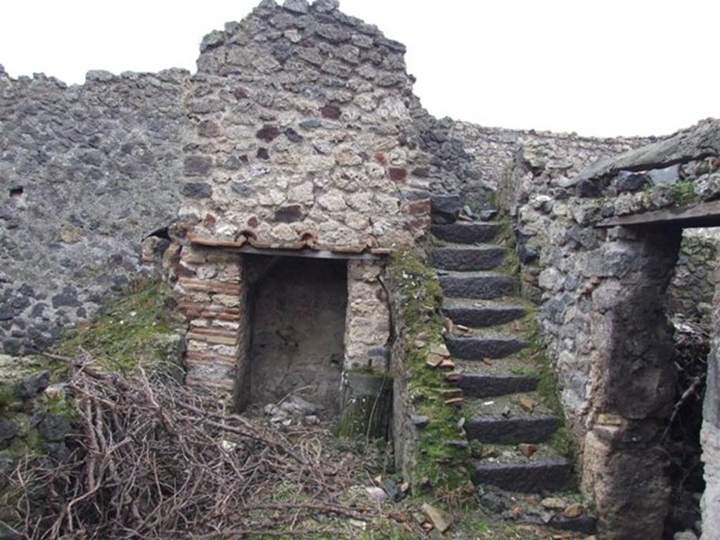
[[[248,256],[252,276],[248,348],[248,408],[297,393],[318,415],[340,409],[347,305],[347,262],[302,257]],[[253,268],[254,267],[254,268]]]

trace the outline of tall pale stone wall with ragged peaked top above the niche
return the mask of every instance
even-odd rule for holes
[[[402,126],[404,46],[332,0],[264,1],[207,35],[189,87],[181,213],[200,234],[323,246],[412,243],[427,158]]]

